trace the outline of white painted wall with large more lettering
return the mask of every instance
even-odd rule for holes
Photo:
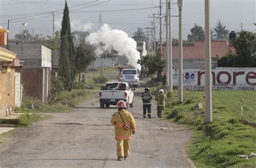
[[[178,85],[178,69],[173,69],[173,86]],[[218,67],[212,69],[213,89],[256,90],[256,68]],[[205,74],[201,69],[184,69],[184,90],[204,90]]]

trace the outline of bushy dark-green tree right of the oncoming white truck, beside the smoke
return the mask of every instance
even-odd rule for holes
[[[142,57],[142,59],[138,60],[138,64],[145,67],[147,76],[157,74],[157,78],[160,78],[161,72],[164,71],[165,60],[162,60],[162,54],[158,52],[156,56],[146,55]]]

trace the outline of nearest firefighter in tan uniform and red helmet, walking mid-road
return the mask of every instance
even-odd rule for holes
[[[117,160],[122,160],[122,158],[126,159],[130,156],[130,138],[131,133],[135,134],[136,132],[136,123],[132,114],[126,110],[125,101],[120,100],[117,107],[118,112],[113,114],[110,122],[114,125],[114,139],[117,141]],[[125,125],[130,129],[125,129]]]

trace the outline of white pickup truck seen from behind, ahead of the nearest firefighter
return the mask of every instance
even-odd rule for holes
[[[117,105],[117,102],[123,100],[127,107],[133,107],[132,92],[134,88],[130,88],[127,82],[106,82],[105,86],[100,88],[99,103],[100,108],[109,108],[110,105]]]

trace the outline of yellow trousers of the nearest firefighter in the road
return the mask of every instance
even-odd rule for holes
[[[117,139],[117,157],[130,156],[130,139]]]

